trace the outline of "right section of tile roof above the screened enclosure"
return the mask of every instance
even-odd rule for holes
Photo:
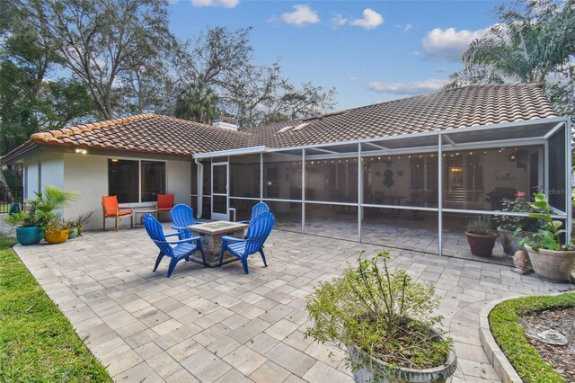
[[[474,85],[252,129],[252,145],[299,147],[557,117],[542,85]],[[303,129],[278,133],[288,125]]]

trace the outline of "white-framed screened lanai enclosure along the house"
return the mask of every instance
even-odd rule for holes
[[[242,220],[263,200],[276,229],[472,258],[469,220],[526,216],[501,211],[517,194],[546,194],[571,232],[570,147],[569,120],[547,118],[203,153],[191,203],[201,218]],[[493,255],[505,261],[500,244]]]

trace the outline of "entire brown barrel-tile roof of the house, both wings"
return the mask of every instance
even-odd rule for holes
[[[34,145],[190,156],[242,147],[299,147],[547,117],[557,114],[542,85],[473,85],[246,131],[141,114],[35,133],[30,141],[4,156],[4,161]],[[288,128],[298,125],[301,129]],[[280,129],[285,131],[279,133]]]

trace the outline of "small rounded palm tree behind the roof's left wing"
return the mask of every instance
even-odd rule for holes
[[[176,102],[175,116],[211,124],[219,112],[217,102],[217,95],[205,83],[191,84]]]

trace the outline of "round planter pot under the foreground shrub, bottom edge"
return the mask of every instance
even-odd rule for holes
[[[433,334],[440,337],[438,333],[430,330]],[[432,369],[407,369],[403,367],[390,368],[385,361],[380,361],[373,356],[367,357],[367,355],[358,350],[357,347],[352,346],[348,348],[349,358],[352,360],[357,360],[357,358],[368,358],[367,365],[365,367],[359,368],[353,371],[353,379],[356,383],[367,383],[367,382],[389,382],[389,383],[400,383],[400,382],[445,382],[457,368],[457,357],[456,352],[449,349],[447,353],[447,361],[438,367]]]

